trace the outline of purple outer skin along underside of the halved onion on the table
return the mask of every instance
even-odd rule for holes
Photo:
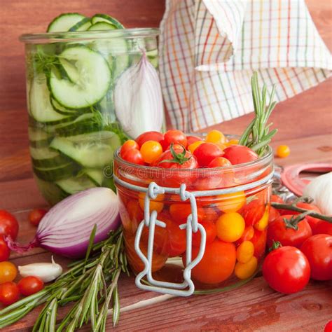
[[[118,227],[120,226],[120,215],[116,218],[113,223],[111,223],[111,226],[107,228],[103,233],[96,233],[94,243],[101,242],[103,240],[106,240],[106,238],[109,235],[109,232],[111,230],[117,230]],[[92,231],[92,229],[91,229]],[[37,240],[38,241],[38,240]],[[65,248],[57,248],[57,247],[50,247],[46,244],[39,244],[39,247],[46,249],[53,254],[57,254],[60,256],[72,258],[72,259],[78,259],[78,258],[84,258],[86,251],[89,246],[89,240],[86,240],[84,242],[81,242],[80,244],[74,244],[71,247],[65,247]]]

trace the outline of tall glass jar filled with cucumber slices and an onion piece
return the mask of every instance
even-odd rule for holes
[[[58,16],[45,34],[20,37],[32,167],[51,205],[87,188],[114,189],[118,146],[162,129],[157,37],[158,29],[78,13]]]

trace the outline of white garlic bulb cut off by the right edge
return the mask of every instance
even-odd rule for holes
[[[332,172],[313,179],[305,187],[303,195],[313,198],[323,214],[332,216]]]

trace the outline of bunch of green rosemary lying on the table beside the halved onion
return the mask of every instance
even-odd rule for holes
[[[113,324],[118,321],[118,277],[127,270],[122,229],[112,231],[109,237],[92,246],[94,231],[90,237],[92,256],[71,263],[53,284],[38,293],[23,298],[0,311],[0,328],[25,317],[35,307],[45,303],[34,324],[33,331],[74,331],[91,322],[93,331],[105,331],[109,303],[113,300]],[[109,286],[107,282],[111,282]],[[75,302],[60,326],[56,327],[57,308]],[[100,309],[99,309],[100,307]]]

